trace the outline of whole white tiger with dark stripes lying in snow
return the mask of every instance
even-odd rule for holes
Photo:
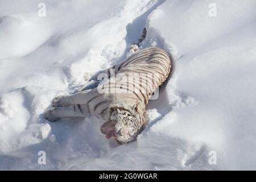
[[[114,137],[119,143],[136,139],[147,125],[145,108],[151,94],[163,84],[171,71],[170,57],[163,49],[148,47],[139,50],[139,43],[145,36],[146,28],[141,38],[130,47],[130,51],[135,52],[133,55],[92,77],[96,81],[94,88],[85,88],[70,96],[57,96],[52,101],[53,109],[46,111],[44,117],[49,121],[57,121],[64,117],[91,115],[105,121],[100,130],[106,138]],[[139,79],[127,80],[117,75],[112,76],[113,71],[123,76],[133,74]],[[138,76],[141,73],[158,77],[148,79]],[[108,81],[96,80],[102,74],[109,78]],[[115,78],[114,81],[112,78]],[[99,92],[100,87],[105,92]],[[106,92],[111,89],[114,92]],[[117,93],[117,89],[126,92]]]

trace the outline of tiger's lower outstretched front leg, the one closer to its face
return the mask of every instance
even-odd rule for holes
[[[87,117],[89,115],[88,105],[71,105],[68,107],[56,107],[44,113],[48,121],[58,121],[60,118]]]

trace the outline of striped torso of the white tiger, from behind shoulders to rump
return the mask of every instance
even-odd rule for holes
[[[137,98],[148,104],[148,99],[155,89],[166,81],[171,71],[171,60],[168,54],[158,47],[148,47],[139,50],[121,63],[107,69],[105,74],[112,77],[114,72],[115,80],[105,84],[105,90],[127,91],[119,97]],[[119,76],[122,75],[122,76]],[[114,92],[117,94],[118,92]]]

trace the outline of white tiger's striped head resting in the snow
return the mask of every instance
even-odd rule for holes
[[[101,126],[101,133],[108,139],[114,137],[119,144],[124,144],[135,140],[145,126],[145,112],[139,111],[138,105],[130,109],[111,107],[110,121]]]

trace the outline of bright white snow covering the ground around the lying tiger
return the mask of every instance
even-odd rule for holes
[[[0,2],[0,169],[256,169],[254,0],[49,0],[45,17],[39,3]],[[137,141],[116,146],[94,118],[43,119],[57,94],[125,59],[143,27],[142,48],[174,61]]]

